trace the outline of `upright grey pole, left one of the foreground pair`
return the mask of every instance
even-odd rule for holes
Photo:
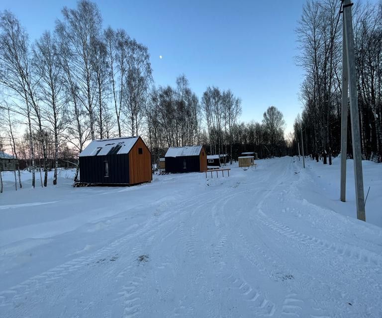
[[[345,25],[345,14],[342,16]],[[340,199],[346,201],[346,157],[348,142],[348,58],[345,26],[342,28],[342,112],[341,112],[341,190]]]

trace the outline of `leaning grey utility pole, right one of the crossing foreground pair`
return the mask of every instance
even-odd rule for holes
[[[351,0],[343,1],[344,28],[345,28],[345,47],[347,54],[347,73],[349,76],[349,96],[350,96],[350,117],[352,121],[352,142],[353,142],[353,161],[354,178],[356,186],[357,219],[366,221],[365,216],[365,197],[364,180],[362,173],[362,154],[361,154],[361,134],[357,99],[357,79],[354,52],[353,21],[352,21]],[[341,157],[344,154],[341,154]],[[346,157],[346,154],[345,154]]]

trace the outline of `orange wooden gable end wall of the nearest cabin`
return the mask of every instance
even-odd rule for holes
[[[138,153],[139,148],[142,148],[142,155]],[[152,180],[151,153],[140,137],[129,153],[129,174],[130,184]]]

